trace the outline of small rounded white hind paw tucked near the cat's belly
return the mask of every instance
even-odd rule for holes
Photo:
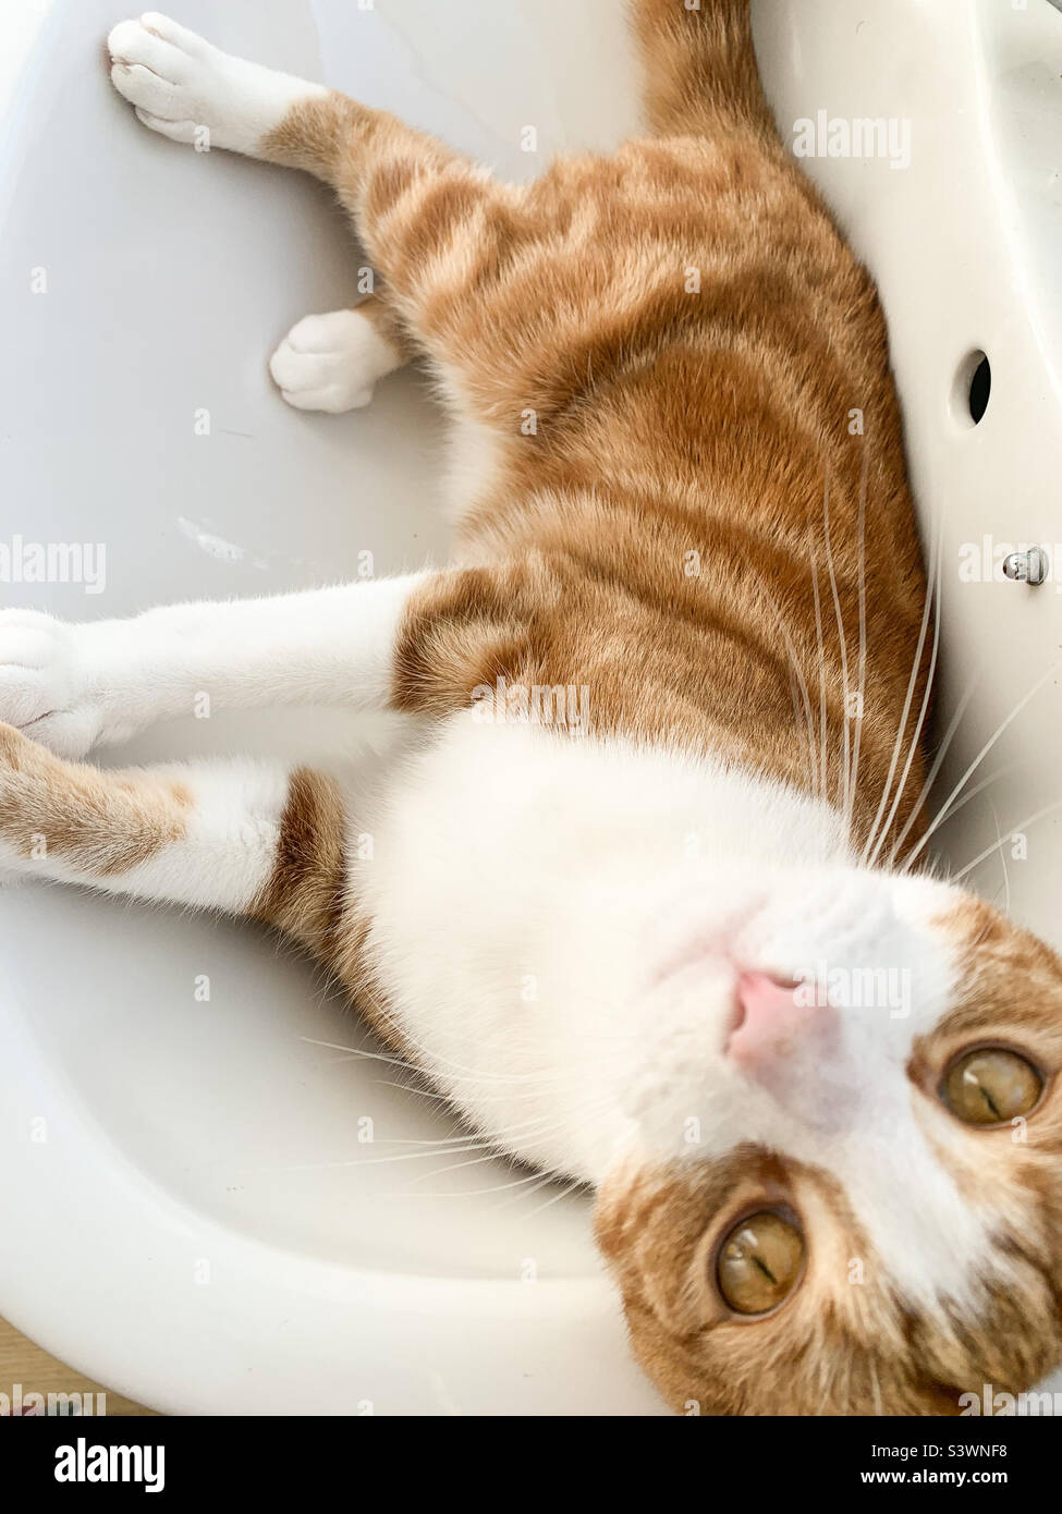
[[[358,310],[303,316],[270,359],[270,372],[297,410],[361,410],[401,353]]]

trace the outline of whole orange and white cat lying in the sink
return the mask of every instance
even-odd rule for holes
[[[147,127],[338,192],[377,294],[273,375],[342,410],[426,357],[458,556],[0,615],[0,864],[315,952],[498,1148],[594,1185],[676,1408],[954,1411],[1062,1357],[1062,966],[903,866],[933,637],[885,324],[747,3],[633,21],[654,135],[526,186],[161,15],[115,27]],[[386,707],[403,749],[82,763],[200,690]]]

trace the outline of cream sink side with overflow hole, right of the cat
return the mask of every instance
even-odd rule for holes
[[[971,774],[964,793],[994,781],[941,828],[941,849],[960,871],[1001,834],[970,881],[1062,946],[1062,14],[1048,0],[762,0],[756,21],[791,139],[823,109],[911,123],[906,168],[804,167],[889,321],[923,537],[939,550],[941,736],[968,696],[930,813],[1027,701]],[[982,354],[992,383],[974,425]],[[1024,544],[1054,560],[1036,589],[998,572]]]

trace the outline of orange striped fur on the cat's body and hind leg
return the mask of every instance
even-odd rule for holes
[[[495,442],[458,544],[476,571],[411,607],[398,706],[464,707],[500,675],[589,684],[603,731],[832,801],[847,765],[865,839],[897,751],[895,825],[920,790],[926,577],[867,271],[759,106],[732,130],[683,104],[717,18],[736,48],[739,12],[638,11],[656,70],[658,38],[707,33],[682,42],[692,73],[653,115],[711,136],[562,159],[515,189],[335,95],[265,153],[335,185]]]

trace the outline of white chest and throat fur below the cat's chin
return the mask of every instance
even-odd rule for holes
[[[356,886],[421,1064],[500,1145],[589,1179],[624,1137],[632,1001],[689,899],[844,852],[833,812],[779,784],[473,712],[368,828]]]

